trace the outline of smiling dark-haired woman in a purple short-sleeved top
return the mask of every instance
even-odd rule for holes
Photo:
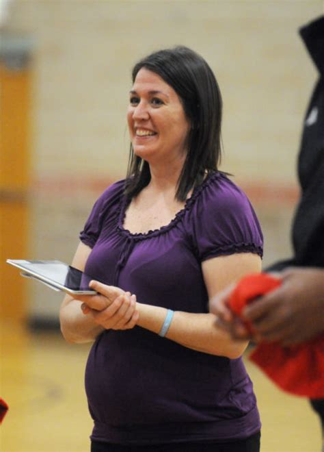
[[[66,340],[95,341],[92,452],[259,451],[247,342],[208,313],[208,299],[260,271],[262,255],[252,206],[217,169],[211,68],[186,47],[148,55],[133,68],[128,123],[126,181],[96,201],[72,262],[98,295],[66,297],[60,314]]]

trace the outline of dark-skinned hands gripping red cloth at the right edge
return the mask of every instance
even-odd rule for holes
[[[324,270],[319,268],[288,268],[276,277],[282,285],[243,310],[243,319],[250,321],[255,342],[277,341],[283,346],[299,344],[324,332]],[[228,307],[234,284],[211,300],[211,312],[217,325],[230,331],[233,338],[251,335],[245,325]]]

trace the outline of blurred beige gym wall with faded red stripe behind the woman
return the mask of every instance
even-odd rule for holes
[[[312,0],[14,1],[6,31],[34,42],[30,257],[71,260],[92,202],[125,172],[131,67],[176,44],[215,71],[223,169],[254,202],[265,264],[288,255],[295,158],[316,80],[297,29],[323,12]],[[46,292],[44,308],[44,288],[30,290],[31,312],[55,316],[59,295]]]

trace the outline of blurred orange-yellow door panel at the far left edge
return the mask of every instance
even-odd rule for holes
[[[27,257],[29,69],[0,61],[0,83],[0,314],[21,322],[27,316],[25,281],[5,260]]]

